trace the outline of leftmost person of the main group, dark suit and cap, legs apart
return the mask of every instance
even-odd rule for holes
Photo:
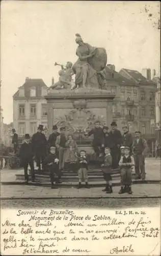
[[[34,161],[33,161],[33,145],[30,142],[30,135],[25,134],[24,142],[20,146],[19,157],[21,158],[21,163],[24,167],[24,179],[25,182],[28,183],[29,176],[28,176],[28,165],[31,168],[31,179],[32,182],[35,181],[35,172],[34,172]]]

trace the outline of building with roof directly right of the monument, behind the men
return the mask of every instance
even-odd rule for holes
[[[106,89],[116,96],[113,100],[113,120],[122,131],[128,125],[129,132],[139,129],[139,86],[115,71],[114,65],[105,68]]]

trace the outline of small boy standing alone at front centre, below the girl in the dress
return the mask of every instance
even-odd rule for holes
[[[85,150],[82,150],[80,152],[78,179],[79,179],[78,188],[82,187],[81,186],[82,181],[85,181],[86,182],[85,187],[89,188],[89,185],[88,185],[88,163],[87,163],[87,159],[86,159],[86,151]]]

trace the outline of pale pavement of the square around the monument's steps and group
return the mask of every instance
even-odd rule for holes
[[[15,179],[17,170],[1,170],[1,181],[11,181]],[[147,179],[160,179],[160,160],[146,159],[146,172]],[[30,185],[1,185],[1,198],[2,199],[24,199],[24,198],[146,198],[146,197],[159,197],[160,184],[133,184],[132,195],[123,194],[119,195],[120,187],[114,187],[113,194],[105,194],[102,192],[102,187],[91,187],[90,189],[82,188],[76,189],[73,187],[59,187],[58,189],[50,189],[48,186]],[[111,199],[110,199],[111,200]]]

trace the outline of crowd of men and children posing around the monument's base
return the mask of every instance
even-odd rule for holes
[[[100,161],[100,167],[103,172],[106,186],[103,189],[106,193],[112,193],[112,174],[113,170],[120,168],[121,188],[119,193],[132,193],[131,190],[131,172],[132,166],[135,166],[135,179],[145,180],[145,156],[148,153],[148,145],[142,138],[139,131],[135,132],[135,137],[128,131],[128,126],[122,127],[122,134],[117,129],[116,122],[111,123],[111,129],[108,126],[101,127],[99,121],[96,121],[91,131],[85,134],[89,137],[93,135],[92,146],[97,159]],[[16,152],[17,135],[13,129],[14,151]],[[78,188],[89,187],[88,183],[88,157],[85,150],[78,150],[76,141],[71,134],[66,135],[66,127],[60,127],[58,132],[57,125],[53,125],[52,133],[48,139],[43,133],[43,125],[38,126],[38,131],[32,138],[25,134],[24,141],[20,146],[18,156],[21,159],[21,165],[24,167],[25,182],[29,182],[28,165],[31,168],[31,179],[35,181],[34,159],[36,161],[38,172],[48,170],[50,174],[51,188],[56,187],[56,183],[61,183],[62,170],[68,166],[73,172],[78,173]]]

